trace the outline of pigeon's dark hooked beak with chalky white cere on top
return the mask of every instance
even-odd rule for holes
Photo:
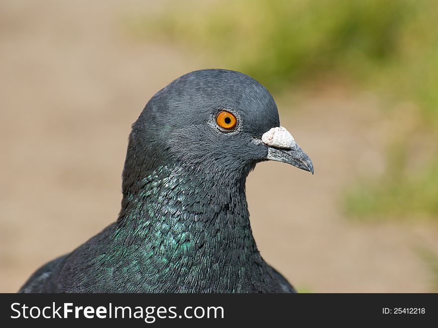
[[[262,142],[268,146],[268,155],[265,159],[288,163],[314,173],[312,160],[284,127],[273,127],[265,132]]]

